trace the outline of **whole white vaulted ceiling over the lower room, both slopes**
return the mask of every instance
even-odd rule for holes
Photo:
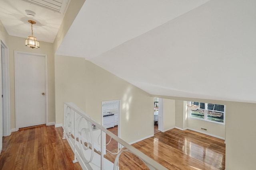
[[[255,0],[86,0],[56,54],[149,94],[256,103],[255,9]]]

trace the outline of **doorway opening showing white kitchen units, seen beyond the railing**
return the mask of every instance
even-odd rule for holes
[[[108,131],[120,137],[120,100],[109,100],[102,102],[102,126]],[[118,142],[106,135],[106,150],[116,152],[120,149]]]

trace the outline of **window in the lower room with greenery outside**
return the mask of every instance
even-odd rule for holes
[[[190,110],[190,117],[224,124],[225,106],[219,104],[194,102],[197,110]]]

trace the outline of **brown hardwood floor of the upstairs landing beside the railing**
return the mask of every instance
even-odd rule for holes
[[[3,137],[0,169],[2,170],[81,170],[73,164],[74,154],[66,140],[62,140],[62,127],[35,127],[13,132]]]

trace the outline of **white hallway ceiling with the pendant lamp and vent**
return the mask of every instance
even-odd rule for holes
[[[46,6],[54,3],[59,5],[56,12],[31,2],[39,2]],[[53,43],[62,23],[69,0],[0,0],[0,20],[9,35],[27,38],[31,35],[31,24],[28,20],[36,21],[33,25],[34,36],[38,41]],[[47,3],[49,2],[49,3]],[[53,5],[52,5],[53,6]],[[54,8],[54,6],[53,6]],[[33,18],[27,16],[25,10],[36,13]]]

